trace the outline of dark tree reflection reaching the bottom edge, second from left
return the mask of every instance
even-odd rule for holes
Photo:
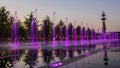
[[[37,50],[29,50],[24,58],[25,65],[29,65],[29,68],[34,68],[37,63]]]

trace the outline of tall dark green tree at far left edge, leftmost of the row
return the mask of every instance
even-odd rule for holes
[[[11,17],[8,10],[6,10],[5,6],[0,8],[0,37],[8,37],[10,36],[10,27],[11,27]]]

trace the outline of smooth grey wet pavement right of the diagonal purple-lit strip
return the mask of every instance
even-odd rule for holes
[[[109,50],[107,57],[107,64],[104,60],[104,52],[99,52],[58,68],[120,68],[120,48]]]

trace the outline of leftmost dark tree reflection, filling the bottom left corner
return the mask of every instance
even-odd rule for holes
[[[0,68],[12,68],[19,60],[17,50],[1,50],[0,57]]]

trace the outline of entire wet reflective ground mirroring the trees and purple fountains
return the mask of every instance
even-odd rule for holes
[[[120,50],[110,51],[120,47],[119,41],[84,45],[70,42],[68,46],[63,45],[65,42],[57,42],[58,46],[39,43],[1,43],[0,68],[103,68],[104,45],[108,51],[108,67],[119,63]]]

